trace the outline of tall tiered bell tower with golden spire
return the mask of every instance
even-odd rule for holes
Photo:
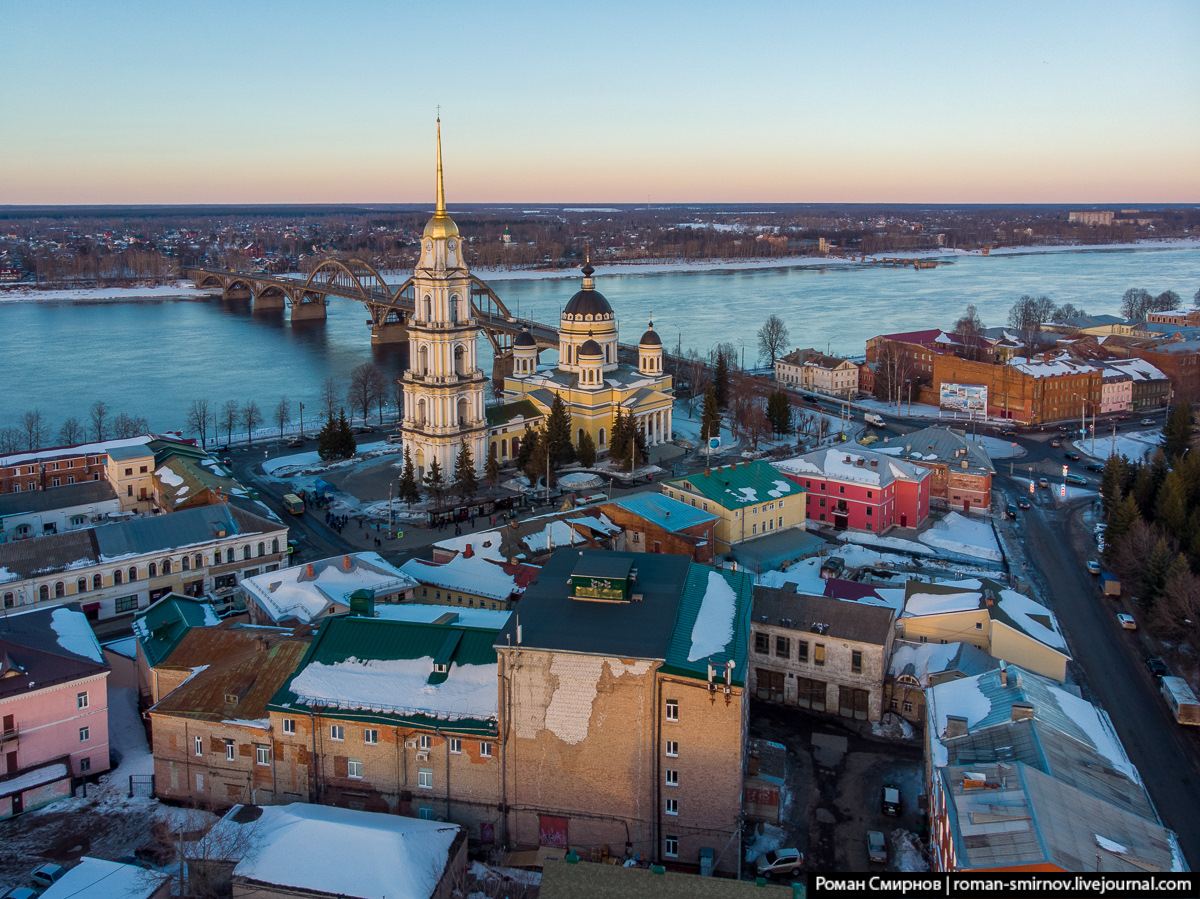
[[[446,214],[440,116],[437,145],[437,209],[425,226],[420,260],[413,270],[415,307],[408,324],[409,368],[401,379],[404,420],[400,431],[418,477],[424,478],[437,460],[449,483],[463,443],[476,471],[487,461],[487,379],[478,365],[470,271],[458,226]]]

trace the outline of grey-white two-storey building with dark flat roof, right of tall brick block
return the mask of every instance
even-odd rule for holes
[[[883,605],[756,587],[750,693],[761,700],[878,721],[895,637]]]

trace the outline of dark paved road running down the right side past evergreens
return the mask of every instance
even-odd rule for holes
[[[1015,497],[1020,487],[1007,478]],[[1044,493],[1044,491],[1039,491]],[[1022,513],[1025,545],[1045,581],[1085,690],[1112,718],[1121,742],[1138,767],[1163,822],[1175,831],[1195,868],[1200,864],[1200,729],[1175,723],[1146,671],[1141,635],[1116,624],[1121,606],[1100,595],[1084,562],[1094,556],[1091,537],[1079,523],[1091,501],[1060,510],[1036,505]]]

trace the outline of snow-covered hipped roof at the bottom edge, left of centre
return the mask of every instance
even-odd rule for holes
[[[210,833],[245,847],[236,880],[354,899],[428,899],[458,837],[458,825],[308,803],[248,817],[236,805]]]

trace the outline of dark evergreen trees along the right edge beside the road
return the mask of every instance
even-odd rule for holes
[[[1200,636],[1200,456],[1189,451],[1194,414],[1176,406],[1148,462],[1111,456],[1100,498],[1104,557],[1164,640]]]

